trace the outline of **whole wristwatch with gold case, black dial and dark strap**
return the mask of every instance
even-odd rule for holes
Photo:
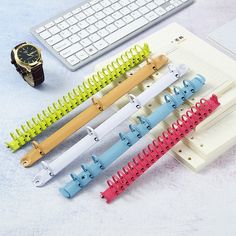
[[[44,81],[41,50],[30,43],[21,43],[11,51],[11,63],[32,87]]]

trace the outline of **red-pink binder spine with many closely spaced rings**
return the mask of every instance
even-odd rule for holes
[[[215,95],[209,100],[201,99],[194,107],[187,110],[167,130],[143,149],[122,170],[117,171],[111,180],[107,181],[108,188],[101,193],[101,197],[110,203],[123,193],[139,176],[167,153],[175,144],[191,132],[200,122],[208,117],[218,106]]]

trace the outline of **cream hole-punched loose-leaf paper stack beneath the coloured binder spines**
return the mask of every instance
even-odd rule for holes
[[[209,98],[212,93],[219,98],[220,108],[203,121],[193,135],[186,137],[172,149],[172,154],[178,161],[194,171],[200,171],[236,144],[236,61],[176,23],[137,43],[142,45],[144,42],[149,44],[153,54],[165,53],[174,64],[186,63],[190,72],[185,75],[185,79],[192,79],[196,74],[206,78],[203,89],[154,127],[145,136],[146,139],[157,137],[201,98]],[[159,73],[163,70],[165,68],[159,70]],[[180,84],[181,81],[175,83],[181,86]],[[145,90],[150,86],[151,80],[145,80],[143,86],[138,86],[132,93],[136,95],[137,90]],[[105,90],[102,91],[104,92]],[[131,118],[132,122],[137,115],[147,115],[159,106],[161,97],[150,101],[144,109],[139,109]],[[119,109],[127,102],[127,98],[120,99],[113,107]],[[135,147],[140,150],[138,144]]]

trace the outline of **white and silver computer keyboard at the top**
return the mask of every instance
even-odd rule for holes
[[[74,71],[193,1],[84,1],[31,32]]]

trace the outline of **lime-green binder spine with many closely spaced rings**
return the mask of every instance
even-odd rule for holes
[[[11,132],[12,140],[6,142],[7,147],[13,151],[18,150],[47,127],[106,87],[109,83],[124,75],[144,59],[147,59],[149,55],[150,49],[148,44],[144,44],[143,47],[135,45],[124,52],[115,61],[92,75],[81,85],[78,85],[72,91],[58,99],[57,102],[48,106],[41,113],[38,113],[36,117],[31,118],[31,120],[21,125],[21,128],[17,128],[15,132]]]

